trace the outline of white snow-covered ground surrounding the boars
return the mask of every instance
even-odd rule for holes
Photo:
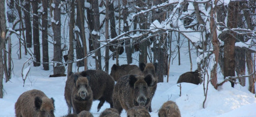
[[[15,49],[15,46],[13,47]],[[15,52],[15,51],[13,51]],[[52,52],[52,50],[49,50]],[[204,91],[202,85],[194,85],[191,83],[181,83],[181,96],[179,96],[180,89],[176,84],[179,75],[190,70],[189,57],[186,47],[182,48],[181,65],[178,65],[177,58],[170,67],[170,78],[167,82],[165,76],[163,83],[157,84],[156,94],[153,97],[152,109],[150,113],[152,116],[158,116],[158,109],[168,100],[175,101],[178,105],[182,116],[256,116],[256,99],[255,95],[248,92],[247,87],[235,85],[235,88],[230,87],[230,83],[226,82],[220,86],[218,90],[209,85],[207,100],[205,108],[203,108]],[[134,58],[138,57],[138,53],[133,54]],[[31,89],[42,90],[48,97],[55,99],[55,116],[63,116],[67,114],[67,104],[64,99],[64,86],[66,77],[49,78],[53,73],[52,66],[49,71],[44,71],[42,65],[33,67],[33,63],[26,64],[24,69],[31,68],[23,87],[23,79],[21,78],[21,68],[24,62],[29,58],[24,56],[21,60],[17,59],[17,54],[13,53],[14,72],[10,82],[3,83],[4,96],[0,99],[0,116],[15,116],[15,103],[17,98],[23,92]],[[192,52],[193,71],[196,70],[196,56]],[[110,68],[116,61],[110,60]],[[88,59],[91,64],[89,68],[93,68],[94,60]],[[103,61],[102,61],[103,63]],[[120,56],[120,64],[125,64],[125,56]],[[134,60],[133,64],[138,64]],[[80,68],[80,71],[82,67]],[[74,65],[73,71],[77,71]],[[23,71],[24,72],[24,71]],[[223,79],[219,75],[218,81]],[[104,103],[103,107],[97,112],[99,101],[93,101],[91,113],[94,116],[99,116],[100,112],[109,108],[109,103]],[[122,111],[121,116],[127,116],[125,111]]]

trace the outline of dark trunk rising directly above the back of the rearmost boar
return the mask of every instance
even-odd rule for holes
[[[123,16],[123,19],[124,19],[124,32],[128,32],[129,31],[129,24],[128,24],[128,21],[127,21],[127,16],[128,16],[127,0],[122,0],[122,6],[124,8],[122,10],[122,16]],[[127,64],[131,64],[132,63],[132,49],[131,49],[130,39],[125,40],[125,53],[127,54]]]

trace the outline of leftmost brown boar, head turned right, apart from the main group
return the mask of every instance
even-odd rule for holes
[[[15,114],[20,116],[53,117],[54,100],[48,98],[41,90],[29,90],[20,95],[15,103]]]

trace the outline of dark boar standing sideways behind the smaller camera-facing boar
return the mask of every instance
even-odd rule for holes
[[[114,79],[102,70],[87,70],[79,73],[88,77],[89,85],[93,93],[93,100],[99,100],[98,112],[105,101],[113,108],[112,94],[114,89]]]

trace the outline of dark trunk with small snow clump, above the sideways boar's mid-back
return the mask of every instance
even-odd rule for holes
[[[93,24],[94,24],[94,30],[92,31],[92,38],[93,38],[93,46],[94,50],[98,49],[100,47],[100,43],[98,40],[100,39],[100,21],[99,21],[99,2],[98,0],[92,1],[92,9],[93,9]],[[102,70],[102,57],[100,54],[100,49],[96,50],[95,52],[95,65],[96,70]]]

